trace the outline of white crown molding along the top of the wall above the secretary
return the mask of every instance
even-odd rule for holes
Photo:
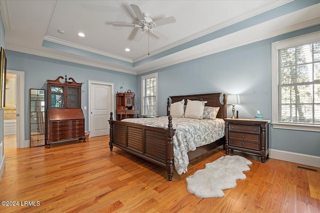
[[[65,56],[61,56],[61,55],[55,55],[55,54],[35,51],[35,50],[31,50],[31,49],[20,48],[20,47],[16,47],[16,46],[12,46],[12,45],[5,45],[5,47],[6,47],[6,49],[12,50],[12,51],[17,51],[17,52],[27,53],[27,54],[31,54],[31,55],[37,55],[37,56],[42,56],[42,57],[46,57],[46,58],[68,61],[68,62],[72,62],[72,63],[77,63],[77,64],[93,66],[93,67],[98,67],[98,68],[102,68],[102,69],[108,69],[108,70],[113,70],[113,71],[136,75],[135,71],[121,69],[121,68],[108,66],[108,65],[104,65],[104,64],[78,60],[78,59],[69,58],[69,57],[65,57]]]

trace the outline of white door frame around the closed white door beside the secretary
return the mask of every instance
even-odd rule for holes
[[[111,86],[111,109],[110,112],[114,115],[114,83],[110,82],[103,82],[103,81],[93,81],[88,80],[88,130],[91,132],[91,103],[94,101],[94,97],[91,97],[91,84],[100,84],[100,85],[107,85]],[[91,138],[91,134],[89,135]]]

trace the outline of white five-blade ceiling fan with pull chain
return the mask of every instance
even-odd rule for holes
[[[148,12],[141,12],[140,8],[138,5],[136,4],[130,4],[133,12],[135,13],[135,15],[137,16],[139,23],[138,24],[130,24],[130,23],[112,23],[113,26],[129,26],[129,27],[139,27],[141,28],[141,30],[139,31],[139,33],[137,33],[136,37],[135,37],[135,41],[139,41],[143,35],[144,32],[150,32],[153,35],[167,40],[169,39],[169,37],[167,37],[166,35],[162,34],[161,32],[155,30],[154,27],[156,26],[161,26],[164,24],[169,24],[169,23],[174,23],[175,22],[175,18],[173,16],[170,17],[166,17],[166,18],[162,18],[156,21],[153,21],[151,18],[149,18],[149,13]]]

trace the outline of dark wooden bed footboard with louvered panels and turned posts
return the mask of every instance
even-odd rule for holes
[[[110,141],[113,146],[127,151],[144,160],[164,167],[168,180],[172,181],[173,139],[175,129],[172,128],[172,117],[168,116],[168,127],[160,128],[140,124],[114,121],[110,113]]]

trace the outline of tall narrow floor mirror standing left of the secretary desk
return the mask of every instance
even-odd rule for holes
[[[45,145],[45,92],[30,89],[30,147]]]

